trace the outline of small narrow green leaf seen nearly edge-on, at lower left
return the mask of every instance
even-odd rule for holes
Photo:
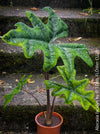
[[[9,102],[11,102],[11,100],[13,99],[13,97],[14,97],[16,94],[18,94],[18,93],[20,92],[20,90],[22,89],[23,85],[25,85],[25,84],[27,83],[27,81],[28,81],[28,79],[29,79],[30,77],[32,77],[32,76],[29,75],[29,76],[24,80],[25,75],[23,75],[23,77],[22,77],[22,78],[20,79],[20,81],[18,82],[17,87],[15,87],[15,88],[13,89],[12,93],[6,94],[6,95],[4,96],[4,98],[5,98],[4,108],[6,107],[6,105],[7,105]]]

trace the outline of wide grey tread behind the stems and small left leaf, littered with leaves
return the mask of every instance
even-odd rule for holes
[[[26,74],[27,75],[27,74]],[[23,74],[7,74],[5,76],[0,76],[0,80],[2,80],[4,83],[0,86],[0,105],[3,105],[4,103],[4,94],[10,93],[14,87],[16,87],[18,81],[23,76]],[[77,79],[85,78],[85,76],[77,76]],[[93,79],[93,76],[90,76],[90,81]],[[59,74],[50,75],[50,80],[53,80],[55,82],[65,84],[63,79]],[[34,94],[36,98],[39,99],[42,105],[46,104],[46,90],[45,90],[45,84],[44,81],[44,75],[43,74],[32,74],[31,82],[24,86],[24,90],[31,92]],[[87,90],[94,90],[95,86],[89,84],[87,86]],[[56,99],[57,105],[65,105],[63,99],[59,99],[57,97]],[[75,105],[80,105],[77,101],[74,102]],[[38,105],[37,102],[34,100],[32,96],[27,94],[26,92],[20,92],[18,95],[16,95],[12,102],[9,105]]]

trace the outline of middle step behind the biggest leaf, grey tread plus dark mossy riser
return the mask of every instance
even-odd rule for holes
[[[89,49],[89,54],[94,62],[94,66],[90,68],[81,59],[75,59],[75,68],[78,73],[95,73],[96,55],[100,55],[100,38],[82,38],[74,41],[76,38],[60,38],[54,43],[80,43],[85,44]],[[100,61],[98,61],[100,62]],[[58,59],[57,65],[62,65],[62,60]],[[23,50],[20,47],[10,46],[0,41],[0,73],[20,73],[20,72],[43,72],[43,59],[41,52],[35,52],[32,58],[26,59]],[[50,73],[55,73],[56,67]]]

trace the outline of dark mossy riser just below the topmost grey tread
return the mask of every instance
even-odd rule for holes
[[[17,13],[16,13],[17,14]],[[47,23],[47,17],[41,17],[44,23]],[[100,36],[100,19],[98,18],[64,18],[68,25],[69,37],[99,37]],[[0,17],[0,32],[5,34],[10,29],[15,28],[14,24],[17,22],[24,22],[32,26],[26,17]],[[6,26],[6,27],[5,27]]]

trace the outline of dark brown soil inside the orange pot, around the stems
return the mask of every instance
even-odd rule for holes
[[[45,124],[45,119],[44,119],[44,116],[43,116],[43,115],[41,115],[41,116],[37,119],[37,121],[38,121],[41,125],[47,126],[47,125]],[[50,125],[50,127],[54,127],[54,126],[58,125],[60,122],[61,122],[61,119],[60,119],[59,117],[56,117],[56,116],[53,115],[53,116],[52,116],[52,124]]]

